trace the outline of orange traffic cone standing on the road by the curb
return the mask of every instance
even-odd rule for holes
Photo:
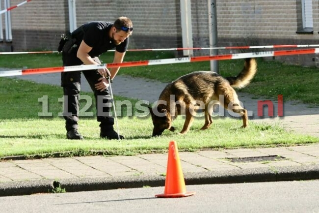
[[[157,194],[156,197],[186,197],[196,192],[186,192],[184,175],[181,167],[175,141],[169,142],[168,161],[165,179],[164,194]]]

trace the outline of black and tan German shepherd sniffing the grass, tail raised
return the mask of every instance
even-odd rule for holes
[[[173,120],[178,115],[184,114],[186,119],[180,133],[185,134],[194,120],[192,112],[204,107],[205,124],[201,129],[207,129],[212,124],[211,101],[218,101],[223,104],[225,109],[228,109],[231,103],[231,110],[238,113],[242,118],[243,125],[241,127],[247,127],[247,110],[240,106],[238,95],[233,88],[247,86],[256,71],[257,61],[246,59],[243,69],[236,77],[223,78],[215,72],[197,71],[184,75],[168,84],[161,92],[159,101],[155,103],[155,106],[153,108],[149,107],[154,125],[153,136],[161,135],[165,129],[174,131]],[[223,96],[223,100],[219,100],[219,95]],[[203,103],[200,107],[197,104],[198,101]]]

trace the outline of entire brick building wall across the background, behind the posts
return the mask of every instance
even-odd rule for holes
[[[11,0],[11,6],[21,0]],[[301,27],[301,0],[217,1],[218,46],[317,44],[319,3],[313,0],[313,34],[297,34]],[[77,24],[114,21],[128,16],[134,31],[129,48],[182,46],[180,0],[77,0]],[[191,0],[194,47],[209,46],[208,0]],[[68,0],[30,1],[11,12],[14,51],[56,50],[60,34],[68,28]],[[254,50],[258,51],[258,50]],[[235,53],[234,50],[219,54]],[[207,55],[195,51],[194,55]],[[315,64],[316,56],[281,57],[280,60]]]

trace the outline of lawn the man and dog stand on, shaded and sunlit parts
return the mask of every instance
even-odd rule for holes
[[[279,125],[250,122],[248,128],[241,129],[239,128],[242,125],[241,120],[218,117],[213,118],[213,125],[205,131],[198,130],[204,124],[204,119],[198,117],[186,135],[164,131],[163,136],[154,138],[151,137],[150,117],[142,112],[136,114],[135,110],[131,115],[131,110],[126,107],[117,112],[118,115],[122,115],[118,118],[118,122],[120,133],[125,135],[125,140],[100,139],[100,129],[94,116],[80,117],[80,132],[85,136],[85,140],[67,140],[64,119],[59,116],[59,112],[62,111],[62,103],[58,101],[62,95],[60,87],[11,78],[0,78],[0,84],[2,85],[0,99],[4,100],[0,102],[0,157],[160,153],[166,152],[168,142],[171,140],[179,143],[181,151],[189,152],[199,149],[287,146],[318,142],[316,137],[293,134]],[[47,108],[43,108],[46,100],[43,99],[43,95],[48,96]],[[83,92],[82,95],[93,98],[92,93]],[[129,100],[133,106],[137,101],[124,97],[116,97],[116,100],[116,103]],[[52,116],[39,117],[39,113],[42,113],[41,115],[52,113]],[[95,107],[90,107],[86,113],[95,115]],[[183,123],[184,118],[178,117],[173,124],[177,131],[180,131]]]

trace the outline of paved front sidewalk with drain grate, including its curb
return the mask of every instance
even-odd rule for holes
[[[168,142],[167,142],[168,145]],[[179,152],[187,184],[319,179],[319,143],[266,149]],[[0,162],[0,196],[164,186],[167,154]]]

